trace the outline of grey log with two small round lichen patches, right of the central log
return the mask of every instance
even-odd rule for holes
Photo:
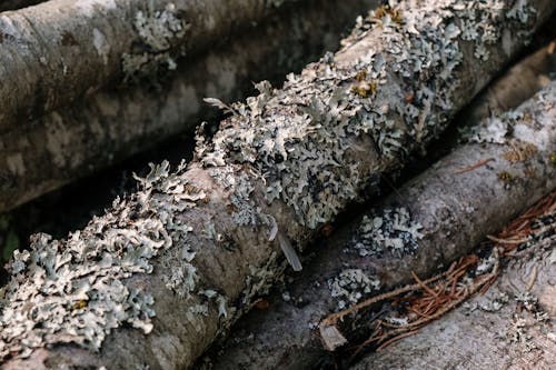
[[[556,189],[555,122],[553,82],[519,109],[471,127],[466,133],[471,143],[457,148],[356,222],[327,237],[310,266],[292,277],[285,292],[272,296],[268,309],[240,320],[231,338],[199,364],[308,369],[347,360],[327,352],[319,322],[380,290],[411,282],[411,272],[425,278],[447,268]],[[361,330],[346,322],[342,328]],[[417,353],[398,362],[409,364]],[[371,362],[398,369],[393,364],[398,362],[383,360],[378,356]]]

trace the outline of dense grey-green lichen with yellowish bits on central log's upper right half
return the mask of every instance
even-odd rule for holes
[[[281,200],[311,229],[330,221],[363,187],[373,186],[368,173],[380,171],[380,164],[369,169],[357,159],[359,150],[368,151],[361,147],[367,138],[384,163],[445,127],[460,83],[454,78],[463,58],[458,40],[471,28],[481,36],[474,40],[477,48],[499,39],[498,20],[509,7],[494,2],[493,8],[483,1],[390,2],[360,19],[344,41],[349,49],[379,28],[380,48],[350,62],[327,56],[289,74],[281,90],[261,82],[260,93],[246,103],[211,99],[231,116],[201,150],[201,162],[248,163],[266,184],[267,202]],[[255,220],[238,216],[241,224]]]

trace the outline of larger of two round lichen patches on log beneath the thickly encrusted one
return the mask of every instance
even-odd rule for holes
[[[423,226],[415,222],[406,208],[381,209],[364,216],[351,241],[359,256],[401,257],[413,253],[423,239]]]

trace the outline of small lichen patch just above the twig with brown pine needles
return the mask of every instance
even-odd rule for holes
[[[330,294],[338,299],[338,309],[355,304],[370,292],[380,289],[380,279],[367,276],[361,269],[346,269],[328,280]]]

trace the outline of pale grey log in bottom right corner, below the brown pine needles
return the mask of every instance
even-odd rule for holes
[[[554,369],[554,220],[553,236],[516,253],[485,294],[353,369]]]

